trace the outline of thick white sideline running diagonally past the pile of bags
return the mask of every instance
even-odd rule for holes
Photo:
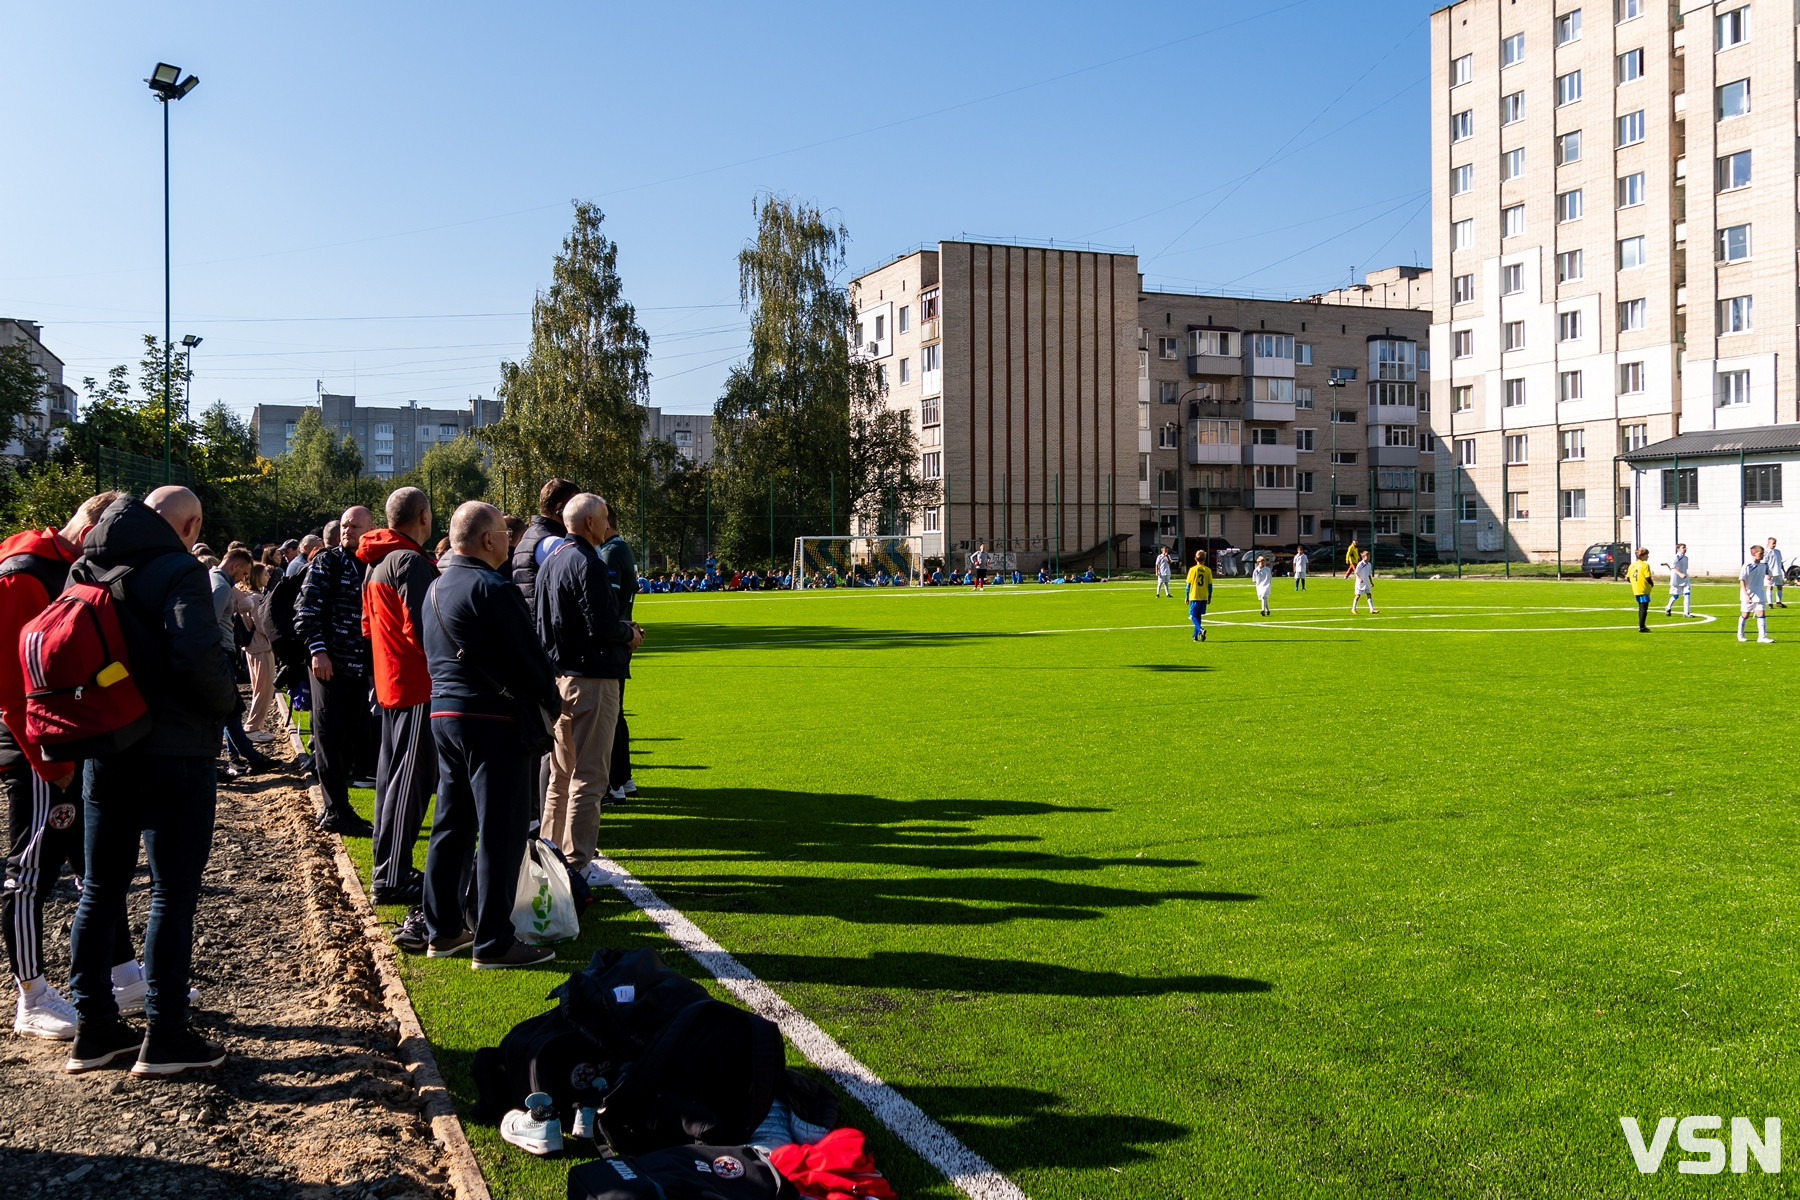
[[[722,982],[731,995],[738,997],[758,1016],[767,1016],[781,1027],[787,1040],[806,1056],[814,1067],[832,1076],[846,1092],[857,1097],[875,1119],[886,1124],[895,1137],[913,1148],[925,1162],[932,1164],[956,1184],[958,1191],[970,1200],[1030,1200],[1019,1184],[994,1169],[994,1166],[965,1146],[950,1130],[927,1117],[918,1105],[887,1087],[880,1076],[857,1061],[850,1051],[837,1043],[810,1018],[803,1016],[792,1004],[751,973],[716,941],[706,936],[698,925],[689,921],[679,909],[670,907],[650,887],[630,871],[612,862],[605,855],[594,855],[594,862],[616,878],[614,887],[644,910],[662,932],[675,939],[688,957],[704,966],[713,979]]]

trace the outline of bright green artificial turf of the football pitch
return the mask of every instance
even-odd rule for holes
[[[643,597],[601,847],[1037,1200],[1773,1195],[1642,1177],[1618,1117],[1800,1097],[1800,622],[1377,590],[1222,581],[1204,644],[1148,583]],[[554,972],[407,959],[459,1105],[596,945],[666,948],[608,896]]]

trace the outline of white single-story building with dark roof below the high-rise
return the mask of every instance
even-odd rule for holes
[[[1800,497],[1789,506],[1782,488],[1789,466],[1800,471],[1800,425],[1678,434],[1618,461],[1631,471],[1620,516],[1652,563],[1669,561],[1676,542],[1687,542],[1690,569],[1706,576],[1735,576],[1750,547],[1769,538],[1789,565],[1800,554]]]

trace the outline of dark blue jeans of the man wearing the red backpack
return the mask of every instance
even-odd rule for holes
[[[144,930],[144,1015],[153,1029],[187,1027],[200,876],[212,853],[218,777],[211,757],[164,757],[131,748],[88,759],[81,777],[86,874],[68,932],[68,984],[83,1020],[117,1020],[112,995],[117,923],[137,873],[149,858],[149,925]]]

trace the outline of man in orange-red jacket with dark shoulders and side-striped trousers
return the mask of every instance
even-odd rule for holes
[[[437,747],[432,743],[432,676],[425,667],[419,606],[437,578],[425,556],[432,536],[432,502],[418,488],[387,497],[387,529],[356,543],[365,565],[362,633],[374,658],[374,698],[382,705],[382,748],[374,765],[374,903],[419,903],[421,876],[412,869],[412,844],[425,806],[437,788]]]

